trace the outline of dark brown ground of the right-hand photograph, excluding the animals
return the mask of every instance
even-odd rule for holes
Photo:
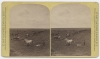
[[[80,32],[79,32],[80,31]],[[91,29],[52,29],[52,56],[90,56],[91,55]],[[75,33],[76,32],[76,33]],[[66,34],[70,33],[67,38],[73,39],[70,46],[67,46],[64,39]],[[74,34],[73,34],[74,33]],[[55,39],[54,36],[61,36]],[[85,45],[84,45],[85,40]],[[80,46],[77,46],[80,44]]]

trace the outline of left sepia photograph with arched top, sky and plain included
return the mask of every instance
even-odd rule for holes
[[[10,56],[49,56],[49,10],[39,4],[14,6],[10,11]]]

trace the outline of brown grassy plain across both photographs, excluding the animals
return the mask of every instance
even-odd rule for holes
[[[86,30],[85,30],[86,29]],[[28,39],[33,40],[30,46],[26,46],[23,40],[10,40],[10,55],[11,56],[50,56],[50,30],[49,29],[11,29],[10,33],[19,33],[20,39],[25,38],[25,34],[32,34],[32,32],[39,32]],[[85,30],[83,32],[72,35],[76,31]],[[91,55],[91,29],[90,28],[70,28],[70,29],[52,29],[54,34],[59,33],[61,39],[54,39],[54,35],[51,35],[51,55],[52,56],[90,56]],[[64,41],[66,34],[70,33],[71,36],[68,38],[73,39],[74,43],[71,46],[66,46]],[[13,38],[10,34],[10,38]],[[85,46],[83,41],[85,40]],[[45,41],[45,46],[35,46],[42,44]],[[77,46],[81,44],[82,46]]]

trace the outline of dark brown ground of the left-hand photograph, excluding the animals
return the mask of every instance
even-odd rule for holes
[[[43,32],[40,32],[43,31]],[[32,33],[34,35],[30,35]],[[18,33],[20,40],[13,40]],[[33,40],[30,46],[24,42],[25,35],[30,36],[27,39]],[[10,55],[11,56],[49,56],[50,55],[50,31],[49,29],[10,29]],[[42,45],[43,41],[45,45]],[[36,46],[40,44],[40,46]]]

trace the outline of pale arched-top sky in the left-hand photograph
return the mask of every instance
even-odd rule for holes
[[[18,5],[10,11],[10,28],[50,28],[50,11],[43,5]]]

